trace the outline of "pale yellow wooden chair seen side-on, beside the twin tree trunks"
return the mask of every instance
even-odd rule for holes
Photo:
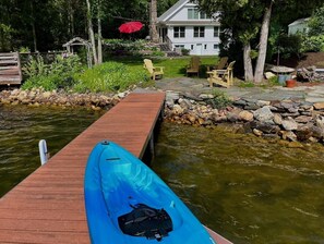
[[[236,61],[232,61],[228,64],[226,70],[213,70],[207,72],[209,86],[213,87],[213,84],[217,84],[225,87],[230,87],[233,85],[232,69]]]

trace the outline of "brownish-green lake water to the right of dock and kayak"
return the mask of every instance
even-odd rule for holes
[[[153,169],[235,243],[324,243],[324,147],[165,123]]]

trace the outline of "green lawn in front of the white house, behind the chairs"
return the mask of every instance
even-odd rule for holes
[[[153,58],[152,61],[154,65],[165,68],[165,77],[179,77],[185,76],[185,68],[189,64],[190,59],[191,57]],[[143,58],[113,58],[113,61],[122,62],[133,68],[143,69]],[[201,77],[205,77],[206,66],[215,65],[218,62],[218,57],[201,57]]]

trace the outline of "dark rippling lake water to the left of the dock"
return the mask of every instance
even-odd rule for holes
[[[39,139],[53,155],[99,115],[85,109],[0,106],[0,197],[40,166]]]

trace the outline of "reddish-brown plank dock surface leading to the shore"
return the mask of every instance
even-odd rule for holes
[[[129,95],[4,195],[0,243],[88,244],[83,181],[91,150],[109,139],[141,158],[164,99],[164,93]]]

